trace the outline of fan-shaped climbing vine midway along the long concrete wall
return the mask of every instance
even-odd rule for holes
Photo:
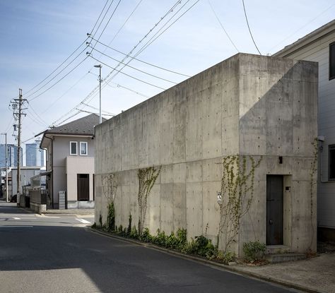
[[[148,208],[148,195],[153,188],[153,184],[160,174],[160,169],[148,167],[139,169],[137,176],[139,177],[139,194],[137,200],[139,202],[139,235],[143,232],[144,220],[146,219],[146,209]]]

